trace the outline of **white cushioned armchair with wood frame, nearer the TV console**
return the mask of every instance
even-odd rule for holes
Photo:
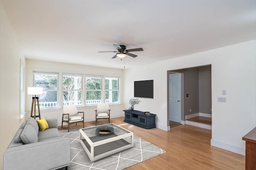
[[[110,109],[108,108],[108,104],[98,104],[97,110],[95,110],[95,116],[96,116],[96,126],[97,126],[97,120],[99,119],[108,119],[108,123],[110,123]]]

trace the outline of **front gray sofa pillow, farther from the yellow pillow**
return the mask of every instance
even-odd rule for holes
[[[34,127],[27,123],[20,135],[20,139],[24,144],[38,142],[38,136]]]

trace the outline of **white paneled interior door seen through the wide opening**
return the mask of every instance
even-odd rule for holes
[[[169,119],[181,120],[181,74],[169,74]]]

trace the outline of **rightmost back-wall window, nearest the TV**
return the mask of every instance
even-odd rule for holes
[[[105,102],[119,103],[119,79],[105,78]]]

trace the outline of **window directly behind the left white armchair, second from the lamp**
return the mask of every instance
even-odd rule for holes
[[[82,102],[82,76],[69,76],[62,77],[62,105],[83,105]]]

